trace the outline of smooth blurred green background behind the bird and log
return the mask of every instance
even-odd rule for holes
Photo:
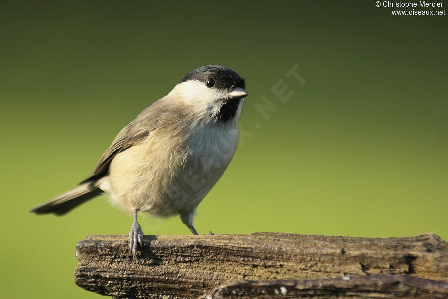
[[[448,238],[447,16],[392,16],[370,0],[0,11],[0,297],[99,298],[74,284],[75,245],[128,234],[131,218],[106,196],[64,217],[29,210],[87,177],[123,126],[206,64],[234,69],[249,96],[235,157],[198,208],[200,234]],[[285,77],[296,64],[304,84]],[[294,91],[285,103],[271,91],[279,80]],[[254,107],[263,96],[269,119]],[[190,233],[178,217],[140,223]]]

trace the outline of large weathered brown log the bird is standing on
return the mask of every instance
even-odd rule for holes
[[[448,245],[434,234],[380,239],[253,233],[143,241],[135,261],[127,236],[79,242],[76,284],[113,298],[197,298],[240,280],[408,274],[448,281]]]

